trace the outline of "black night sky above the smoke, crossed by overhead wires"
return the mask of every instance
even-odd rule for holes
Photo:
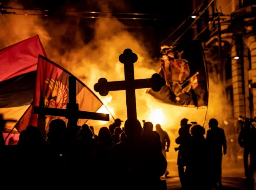
[[[7,6],[11,0],[1,1]],[[144,16],[143,18],[156,17],[157,20],[120,20],[128,26],[128,31],[134,36],[140,38],[145,44],[152,57],[158,57],[160,51],[160,42],[177,28],[192,12],[192,0],[169,0],[169,1],[148,1],[148,0],[17,0],[18,4],[22,4],[24,8],[41,8],[49,10],[48,14],[55,14],[54,17],[48,16],[45,19],[58,20],[58,22],[66,24],[69,19],[64,16],[58,16],[58,10],[68,10],[73,8],[78,11],[94,11],[102,12],[102,6],[108,5],[108,11],[113,13],[146,13],[157,14],[157,16]],[[117,3],[118,2],[118,3]],[[56,16],[57,15],[57,16]],[[18,16],[18,15],[17,15]],[[131,16],[132,17],[132,16]],[[88,43],[94,36],[94,28],[92,27],[96,19],[80,18],[78,22],[79,28],[84,32],[84,42]],[[166,41],[171,44],[192,22],[188,21],[180,30],[178,30],[172,38]],[[70,22],[69,22],[70,23]],[[72,23],[72,22],[71,22]],[[72,29],[72,26],[70,26]],[[188,31],[182,40],[191,38],[191,31]],[[72,43],[72,32],[64,36],[66,41]],[[69,39],[70,38],[70,39]]]

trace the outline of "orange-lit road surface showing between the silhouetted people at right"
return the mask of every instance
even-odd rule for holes
[[[171,178],[162,178],[167,182],[168,190],[180,189],[180,179],[178,177],[178,169],[175,159],[169,159],[168,171],[170,172]],[[222,162],[222,184],[224,190],[246,190],[244,168],[242,157],[240,156],[237,163],[227,162],[226,157],[223,158]]]

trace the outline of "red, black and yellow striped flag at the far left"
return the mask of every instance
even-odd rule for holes
[[[46,53],[38,36],[0,50],[0,113],[4,119],[18,121],[30,108],[39,55]],[[5,132],[18,133],[15,124],[6,123]]]

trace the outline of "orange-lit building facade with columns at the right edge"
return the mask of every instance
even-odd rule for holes
[[[223,87],[227,116],[256,117],[256,89],[250,88],[256,83],[256,0],[215,0],[206,14],[209,27],[200,37],[197,26],[195,35],[204,44],[209,75]]]

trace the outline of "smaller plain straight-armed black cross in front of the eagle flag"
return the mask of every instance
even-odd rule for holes
[[[68,96],[69,100],[66,109],[34,106],[34,113],[66,117],[68,119],[68,128],[71,126],[74,128],[77,125],[78,119],[109,121],[109,114],[79,110],[78,103],[76,103],[76,77],[68,77]]]

